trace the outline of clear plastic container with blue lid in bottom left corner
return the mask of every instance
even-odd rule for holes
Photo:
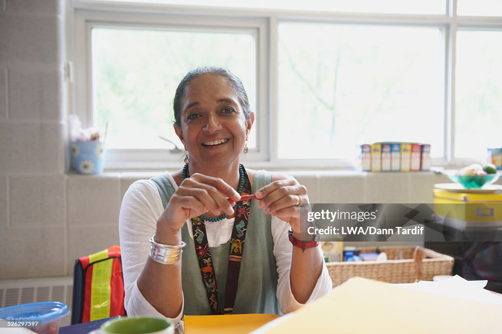
[[[16,321],[38,334],[57,334],[59,322],[68,314],[68,306],[57,301],[34,302],[0,309],[0,319]],[[38,322],[34,325],[35,322]]]

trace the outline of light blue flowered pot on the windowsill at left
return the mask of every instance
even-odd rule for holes
[[[77,173],[99,174],[103,172],[106,154],[104,142],[71,142],[70,149],[73,167]]]

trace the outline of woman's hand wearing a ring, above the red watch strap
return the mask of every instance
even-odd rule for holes
[[[295,234],[300,233],[300,204],[309,201],[305,186],[292,176],[274,174],[272,182],[255,194],[265,213],[289,222]]]

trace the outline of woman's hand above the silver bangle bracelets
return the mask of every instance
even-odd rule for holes
[[[235,203],[227,197],[234,202],[240,199],[235,189],[220,178],[199,173],[191,175],[181,182],[157,221],[156,241],[164,243],[162,240],[169,235],[178,234],[187,219],[201,214],[233,214]]]

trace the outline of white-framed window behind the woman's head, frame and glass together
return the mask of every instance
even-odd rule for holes
[[[159,136],[183,149],[173,130],[174,92],[188,71],[209,65],[241,79],[256,113],[247,158],[267,159],[267,141],[258,145],[267,133],[265,20],[77,6],[74,22],[73,109],[84,126],[108,124],[106,168],[179,165],[182,154]]]

